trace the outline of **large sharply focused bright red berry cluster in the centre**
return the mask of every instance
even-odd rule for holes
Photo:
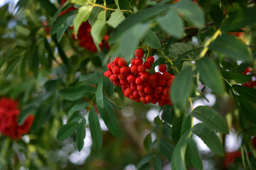
[[[135,58],[131,60],[131,66],[127,66],[124,58],[116,57],[112,62],[107,64],[105,77],[110,78],[114,86],[121,86],[124,96],[143,103],[159,103],[171,105],[169,98],[169,89],[174,75],[167,71],[165,64],[159,66],[160,72],[151,74],[154,57],[147,57],[143,63],[144,51],[137,49]]]

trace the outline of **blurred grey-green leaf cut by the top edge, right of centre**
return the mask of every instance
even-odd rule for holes
[[[203,28],[205,16],[203,10],[193,1],[178,1],[172,6],[178,13],[182,13],[184,18],[193,23],[198,28]]]

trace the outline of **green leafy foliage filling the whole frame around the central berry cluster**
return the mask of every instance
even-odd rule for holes
[[[0,96],[18,101],[19,125],[34,117],[21,140],[0,135],[0,169],[203,169],[206,157],[215,169],[256,166],[254,1],[19,0],[0,16]],[[175,76],[171,106],[132,101],[103,76],[137,49],[154,56],[146,72],[166,64]],[[193,108],[208,94],[213,105]],[[232,131],[242,143],[228,164]]]

